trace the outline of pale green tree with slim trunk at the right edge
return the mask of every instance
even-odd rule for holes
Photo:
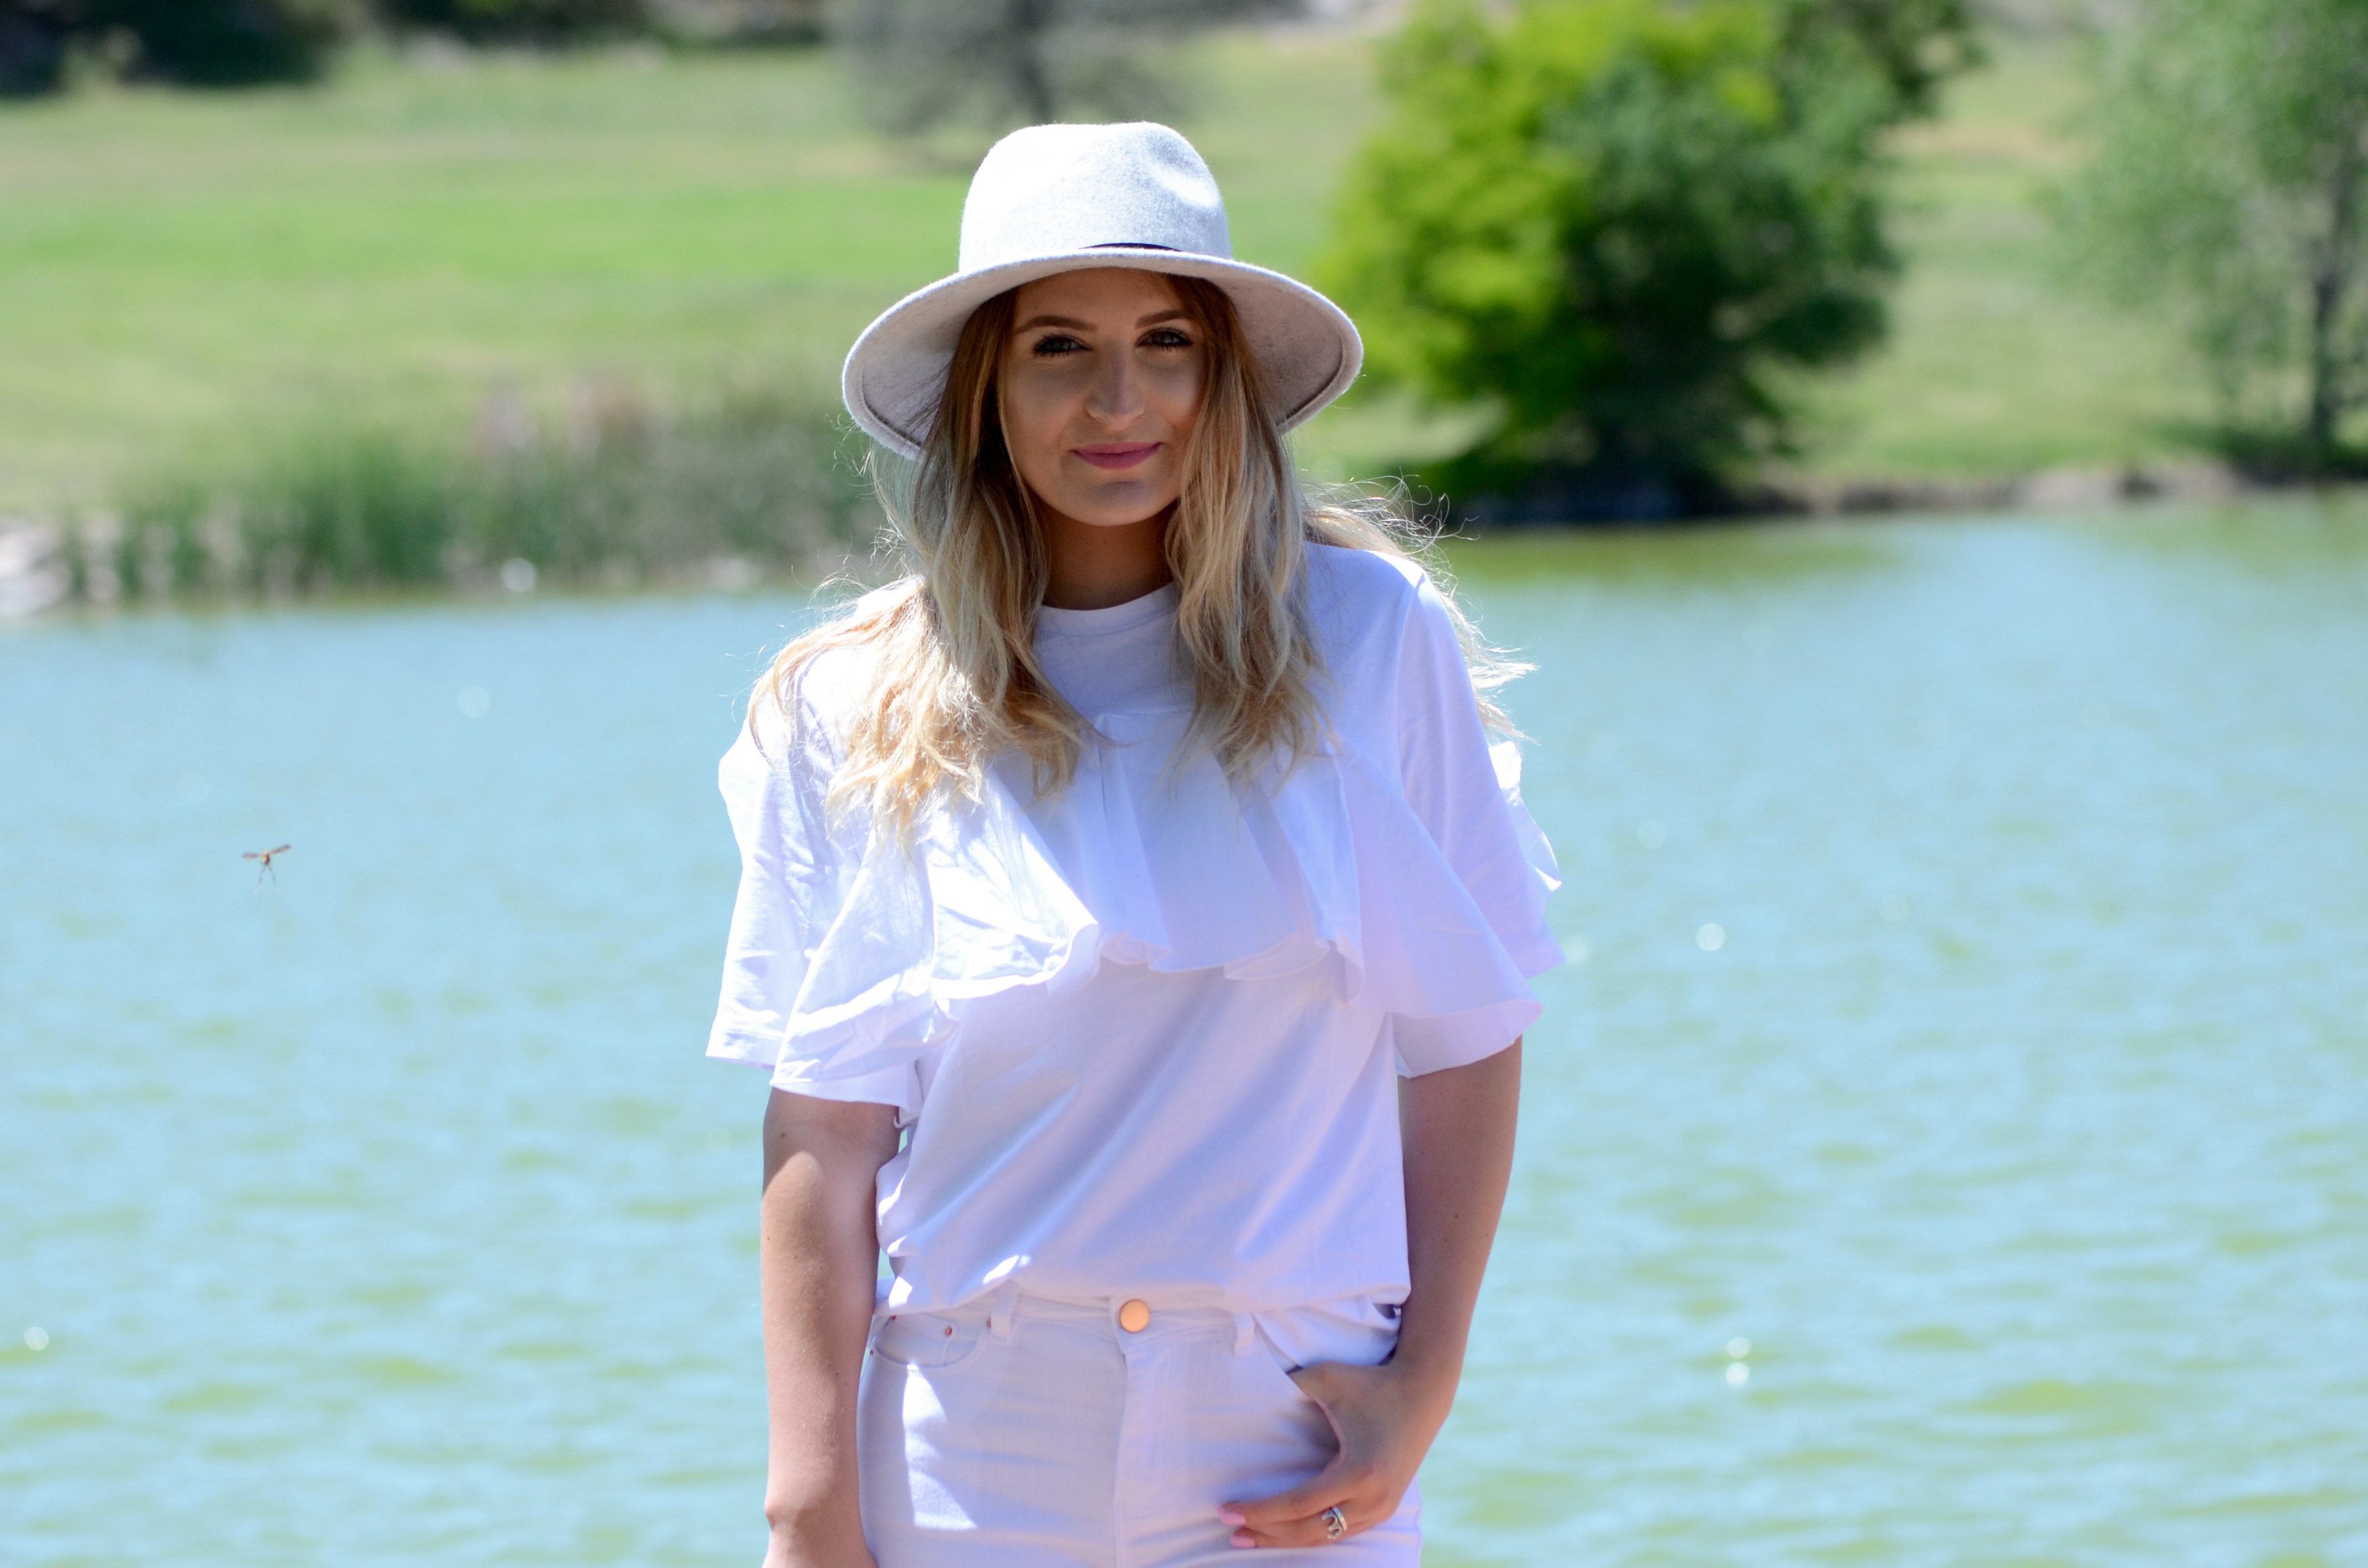
[[[2238,445],[2337,464],[2368,403],[2368,0],[2153,0],[2100,43],[2074,265],[2176,313]]]

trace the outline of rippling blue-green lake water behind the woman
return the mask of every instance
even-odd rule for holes
[[[1428,1561],[2368,1563],[2368,509],[1459,566],[1584,962]],[[0,635],[0,1561],[753,1568],[800,616]]]

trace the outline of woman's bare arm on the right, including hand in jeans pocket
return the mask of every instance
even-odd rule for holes
[[[1238,1525],[1236,1547],[1321,1544],[1324,1509],[1333,1504],[1350,1532],[1397,1511],[1456,1402],[1480,1274],[1513,1172],[1518,1108],[1520,1040],[1471,1066],[1399,1085],[1411,1289],[1397,1319],[1397,1355],[1383,1367],[1321,1364],[1293,1374],[1331,1416],[1340,1454],[1307,1485],[1227,1504],[1220,1518]]]

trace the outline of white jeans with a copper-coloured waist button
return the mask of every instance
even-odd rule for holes
[[[874,1324],[857,1469],[879,1568],[1246,1561],[1217,1506],[1321,1471],[1331,1424],[1250,1319],[1153,1307],[1130,1334],[1118,1307],[1002,1296]],[[1390,1348],[1333,1338],[1350,1343],[1321,1360],[1376,1364]],[[1418,1516],[1409,1487],[1371,1530],[1248,1561],[1414,1568]]]

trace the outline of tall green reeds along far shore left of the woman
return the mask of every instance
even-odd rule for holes
[[[230,464],[137,476],[121,521],[83,531],[81,576],[287,595],[471,585],[511,559],[559,583],[796,571],[860,542],[850,445],[831,403],[770,388],[673,419],[618,386],[559,422],[497,400],[474,443],[322,422]]]

